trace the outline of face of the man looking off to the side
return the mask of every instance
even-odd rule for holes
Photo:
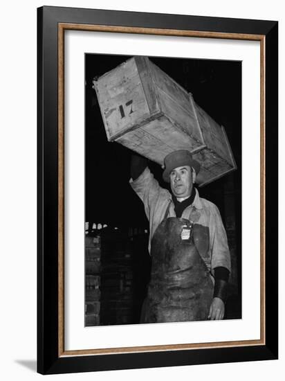
[[[194,172],[190,166],[177,167],[170,172],[170,186],[177,198],[189,197],[194,184]]]

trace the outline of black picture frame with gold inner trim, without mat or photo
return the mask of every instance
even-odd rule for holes
[[[274,360],[278,356],[277,21],[44,6],[38,22],[37,371],[42,374]],[[64,346],[64,33],[240,39],[260,44],[260,338],[203,344]],[[83,248],[82,248],[83,250]]]

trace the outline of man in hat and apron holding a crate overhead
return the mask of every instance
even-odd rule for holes
[[[230,253],[217,206],[194,188],[200,164],[187,150],[165,157],[163,179],[133,155],[130,184],[149,219],[151,279],[141,322],[223,319]]]

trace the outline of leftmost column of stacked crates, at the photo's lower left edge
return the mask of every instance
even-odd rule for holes
[[[100,236],[85,237],[85,326],[100,325]]]

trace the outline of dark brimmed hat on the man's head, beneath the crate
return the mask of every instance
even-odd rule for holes
[[[200,164],[192,158],[191,152],[187,150],[177,150],[167,154],[164,159],[164,166],[163,180],[167,183],[169,183],[170,172],[174,170],[174,168],[190,166],[194,168],[196,175],[198,175],[200,170]]]

